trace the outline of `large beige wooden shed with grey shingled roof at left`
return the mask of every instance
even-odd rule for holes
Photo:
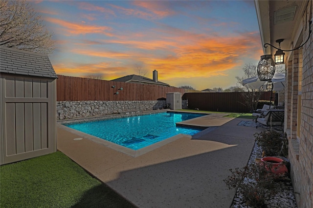
[[[0,165],[57,151],[57,75],[48,56],[1,46],[0,75]]]

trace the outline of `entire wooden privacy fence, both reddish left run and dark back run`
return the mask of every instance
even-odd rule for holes
[[[250,112],[243,103],[243,93],[201,93],[176,87],[155,84],[136,84],[101,79],[90,79],[58,75],[57,101],[141,101],[166,98],[166,93],[179,92],[188,99],[188,108],[208,111]],[[112,88],[115,86],[115,88]],[[119,88],[123,90],[118,90]],[[118,94],[116,94],[118,92]],[[265,92],[261,100],[269,100]]]

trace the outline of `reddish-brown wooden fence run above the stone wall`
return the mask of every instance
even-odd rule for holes
[[[115,86],[112,88],[111,86]],[[123,90],[118,90],[119,88]],[[118,94],[115,94],[118,92]],[[58,75],[57,101],[134,101],[166,98],[166,93],[194,92],[155,84],[136,84]]]

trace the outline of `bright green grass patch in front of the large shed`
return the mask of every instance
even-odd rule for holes
[[[134,208],[62,152],[0,167],[1,208]]]

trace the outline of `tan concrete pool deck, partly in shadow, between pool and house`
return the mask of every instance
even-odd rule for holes
[[[243,118],[213,113],[182,122],[209,127],[140,155],[99,144],[58,124],[58,150],[139,208],[229,208],[235,190],[224,179],[244,167],[254,145]],[[74,140],[75,138],[83,138]]]

